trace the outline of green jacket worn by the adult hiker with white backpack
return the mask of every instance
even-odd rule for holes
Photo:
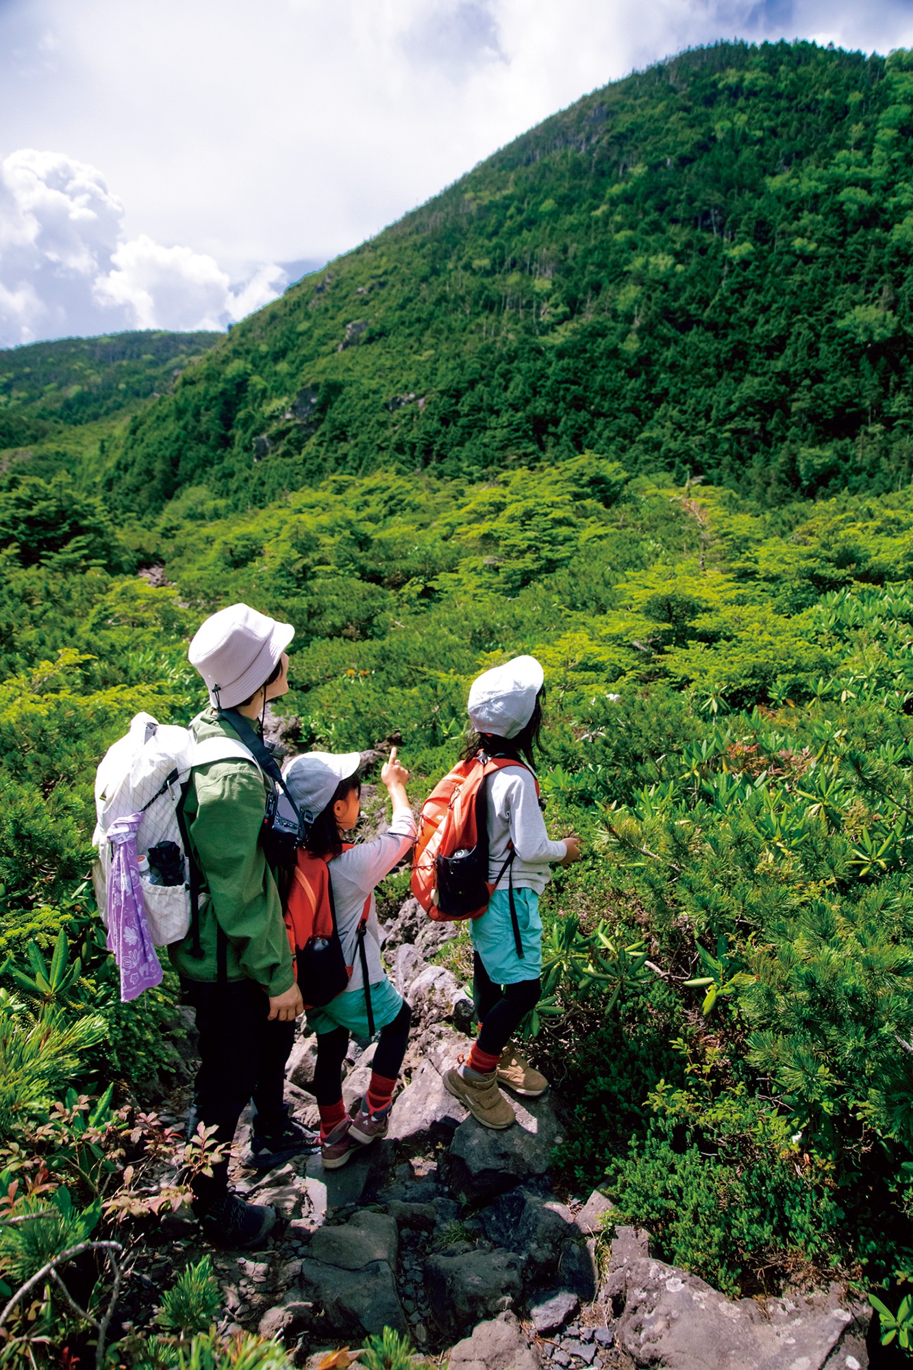
[[[197,741],[218,736],[239,740],[214,708],[195,718],[191,730]],[[169,947],[171,964],[188,980],[218,978],[221,926],[228,938],[229,980],[255,980],[267,995],[282,995],[295,981],[278,891],[259,843],[265,804],[266,782],[251,762],[210,762],[192,773],[184,817],[203,875],[203,956],[192,955],[192,932]]]

